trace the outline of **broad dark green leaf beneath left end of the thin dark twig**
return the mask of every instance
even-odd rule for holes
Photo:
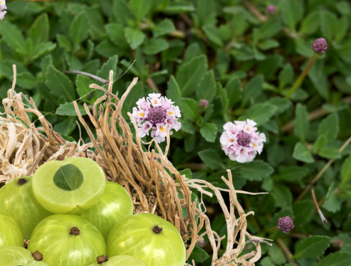
[[[53,65],[49,65],[47,69],[46,85],[54,96],[58,98],[63,96],[67,101],[76,100],[75,87],[72,82]]]

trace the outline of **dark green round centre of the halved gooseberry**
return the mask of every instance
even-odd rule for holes
[[[53,176],[53,183],[68,191],[73,191],[81,187],[84,181],[83,173],[72,164],[61,166]]]

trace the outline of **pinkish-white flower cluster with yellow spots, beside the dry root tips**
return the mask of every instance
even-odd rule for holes
[[[178,131],[181,123],[177,117],[181,117],[179,107],[173,105],[167,97],[161,97],[160,93],[151,93],[149,97],[143,97],[137,101],[138,108],[133,108],[133,117],[138,123],[140,137],[149,135],[155,137],[158,143],[165,140],[167,132],[165,126],[168,125],[170,135],[171,129]]]

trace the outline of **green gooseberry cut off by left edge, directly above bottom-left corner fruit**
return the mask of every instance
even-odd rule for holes
[[[20,226],[0,211],[0,247],[23,246],[23,234]]]

